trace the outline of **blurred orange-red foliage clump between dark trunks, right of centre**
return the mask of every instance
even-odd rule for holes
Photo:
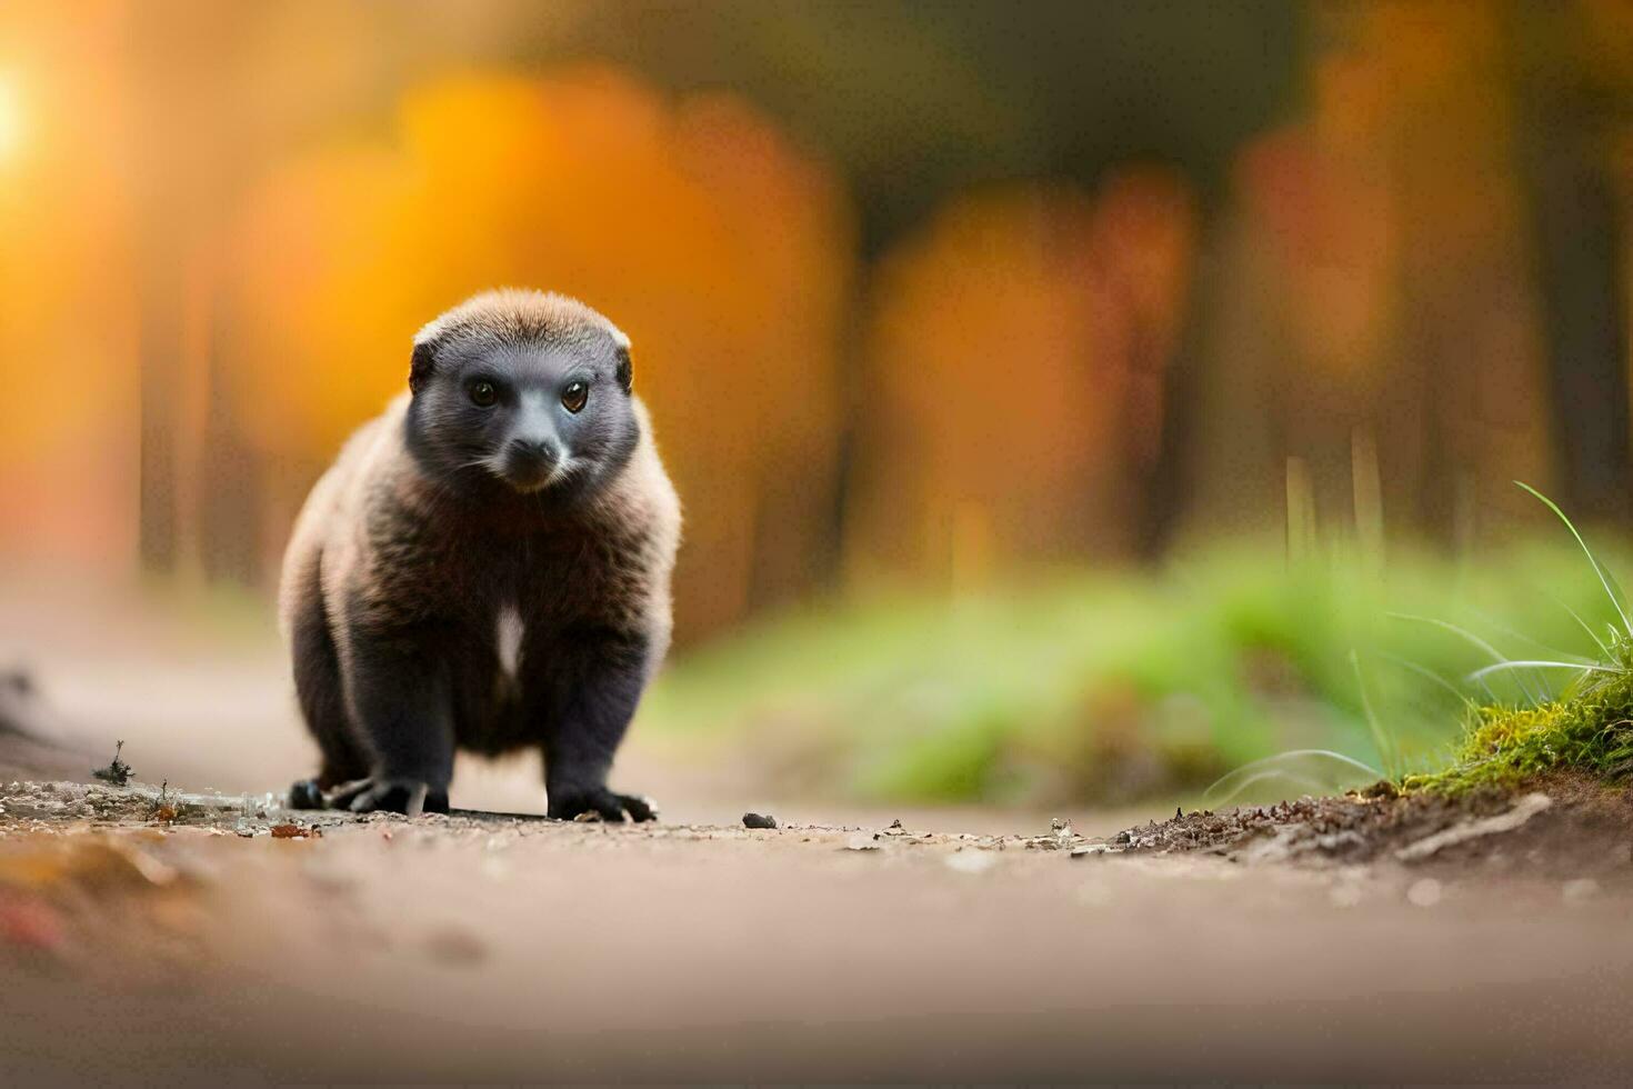
[[[1184,186],[1130,171],[1097,199],[1017,186],[955,201],[890,255],[852,568],[960,580],[1122,547],[1192,232]]]

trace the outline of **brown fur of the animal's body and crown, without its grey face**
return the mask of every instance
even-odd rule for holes
[[[426,325],[416,353],[451,343],[477,356],[593,353],[611,343],[627,377],[629,340],[563,296],[480,296]],[[611,384],[598,397],[627,398],[622,408],[603,403],[627,411],[639,438],[570,503],[439,475],[410,441],[410,395],[359,428],[314,487],[284,557],[279,617],[307,725],[323,748],[322,787],[407,779],[436,797],[447,782],[434,735],[451,730],[459,748],[478,753],[542,745],[547,764],[572,772],[552,780],[552,811],[568,790],[604,811],[604,782],[590,780],[604,779],[627,712],[668,648],[681,516],[645,407]],[[526,624],[514,678],[501,668],[505,611]],[[446,673],[423,699],[451,700],[451,722],[444,727],[434,707],[376,699],[359,678],[387,666],[397,671],[384,674],[389,686]],[[377,722],[382,715],[392,722]],[[447,753],[449,771],[451,761]]]

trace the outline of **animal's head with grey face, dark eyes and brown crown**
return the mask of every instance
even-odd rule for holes
[[[408,442],[451,482],[572,500],[590,495],[640,438],[629,338],[585,304],[492,291],[415,338]]]

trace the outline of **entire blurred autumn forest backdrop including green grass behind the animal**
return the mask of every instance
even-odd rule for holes
[[[1609,612],[1512,480],[1633,571],[1630,224],[1612,0],[13,0],[0,647],[304,771],[294,513],[519,284],[630,333],[686,504],[639,738],[934,802],[1432,759],[1548,681],[1391,612]]]

